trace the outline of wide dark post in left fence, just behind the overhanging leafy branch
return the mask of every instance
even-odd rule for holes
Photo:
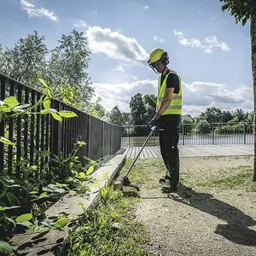
[[[61,102],[53,101],[53,108],[55,108],[57,111],[61,108]],[[52,118],[51,121],[51,154],[60,155],[61,150],[61,122],[58,120]]]

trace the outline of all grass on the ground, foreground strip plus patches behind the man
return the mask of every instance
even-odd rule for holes
[[[191,165],[192,161],[189,162],[189,159],[181,159],[181,181],[193,189],[255,192],[253,170],[248,166],[250,161],[241,163],[241,159],[242,157],[213,157],[202,159],[201,162],[194,160],[194,165]],[[125,161],[119,179],[131,166],[131,161]],[[230,166],[230,161],[233,167],[224,167],[224,163]],[[206,169],[209,162],[210,166],[212,163],[215,166],[211,170]],[[165,166],[161,159],[137,160],[129,179],[149,192],[151,189],[160,189],[161,185],[157,180],[164,172]],[[135,209],[140,200],[136,194],[135,189],[129,188],[125,188],[124,192],[114,191],[112,188],[102,189],[97,208],[85,212],[83,222],[69,234],[68,248],[63,255],[144,256],[147,253],[148,237],[145,227],[136,218]]]

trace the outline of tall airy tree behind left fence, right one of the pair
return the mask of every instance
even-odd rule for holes
[[[83,32],[73,30],[70,35],[62,35],[59,45],[51,51],[48,74],[58,83],[64,79],[65,83],[78,87],[83,102],[90,101],[94,93],[90,78],[85,70],[88,68],[90,52]]]

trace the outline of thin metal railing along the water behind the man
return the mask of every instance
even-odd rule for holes
[[[200,123],[181,124],[179,145],[253,144],[253,123]],[[159,132],[154,131],[146,146],[159,146]],[[125,126],[122,148],[141,147],[148,137],[148,127],[143,125]]]

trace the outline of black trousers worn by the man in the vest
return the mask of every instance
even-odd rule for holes
[[[177,143],[179,139],[181,116],[179,114],[166,114],[160,116],[160,153],[166,169],[169,170],[171,181],[179,182],[179,151]]]

